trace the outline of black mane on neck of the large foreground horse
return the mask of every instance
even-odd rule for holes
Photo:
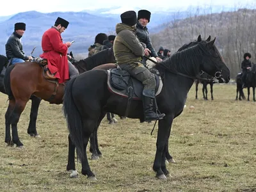
[[[201,41],[196,43],[196,45],[185,44],[181,48],[182,51],[175,52],[170,58],[161,61],[159,65],[157,65],[157,69],[161,70],[169,70],[169,71],[177,71],[182,72],[186,75],[195,76],[194,72],[198,72],[199,68],[196,63],[198,63],[198,60],[196,59],[195,55],[202,55],[202,49],[201,47],[205,47],[204,44],[206,44],[205,41]],[[189,47],[191,46],[191,47]],[[179,50],[181,50],[181,48]],[[191,72],[191,65],[193,68],[193,73]]]

